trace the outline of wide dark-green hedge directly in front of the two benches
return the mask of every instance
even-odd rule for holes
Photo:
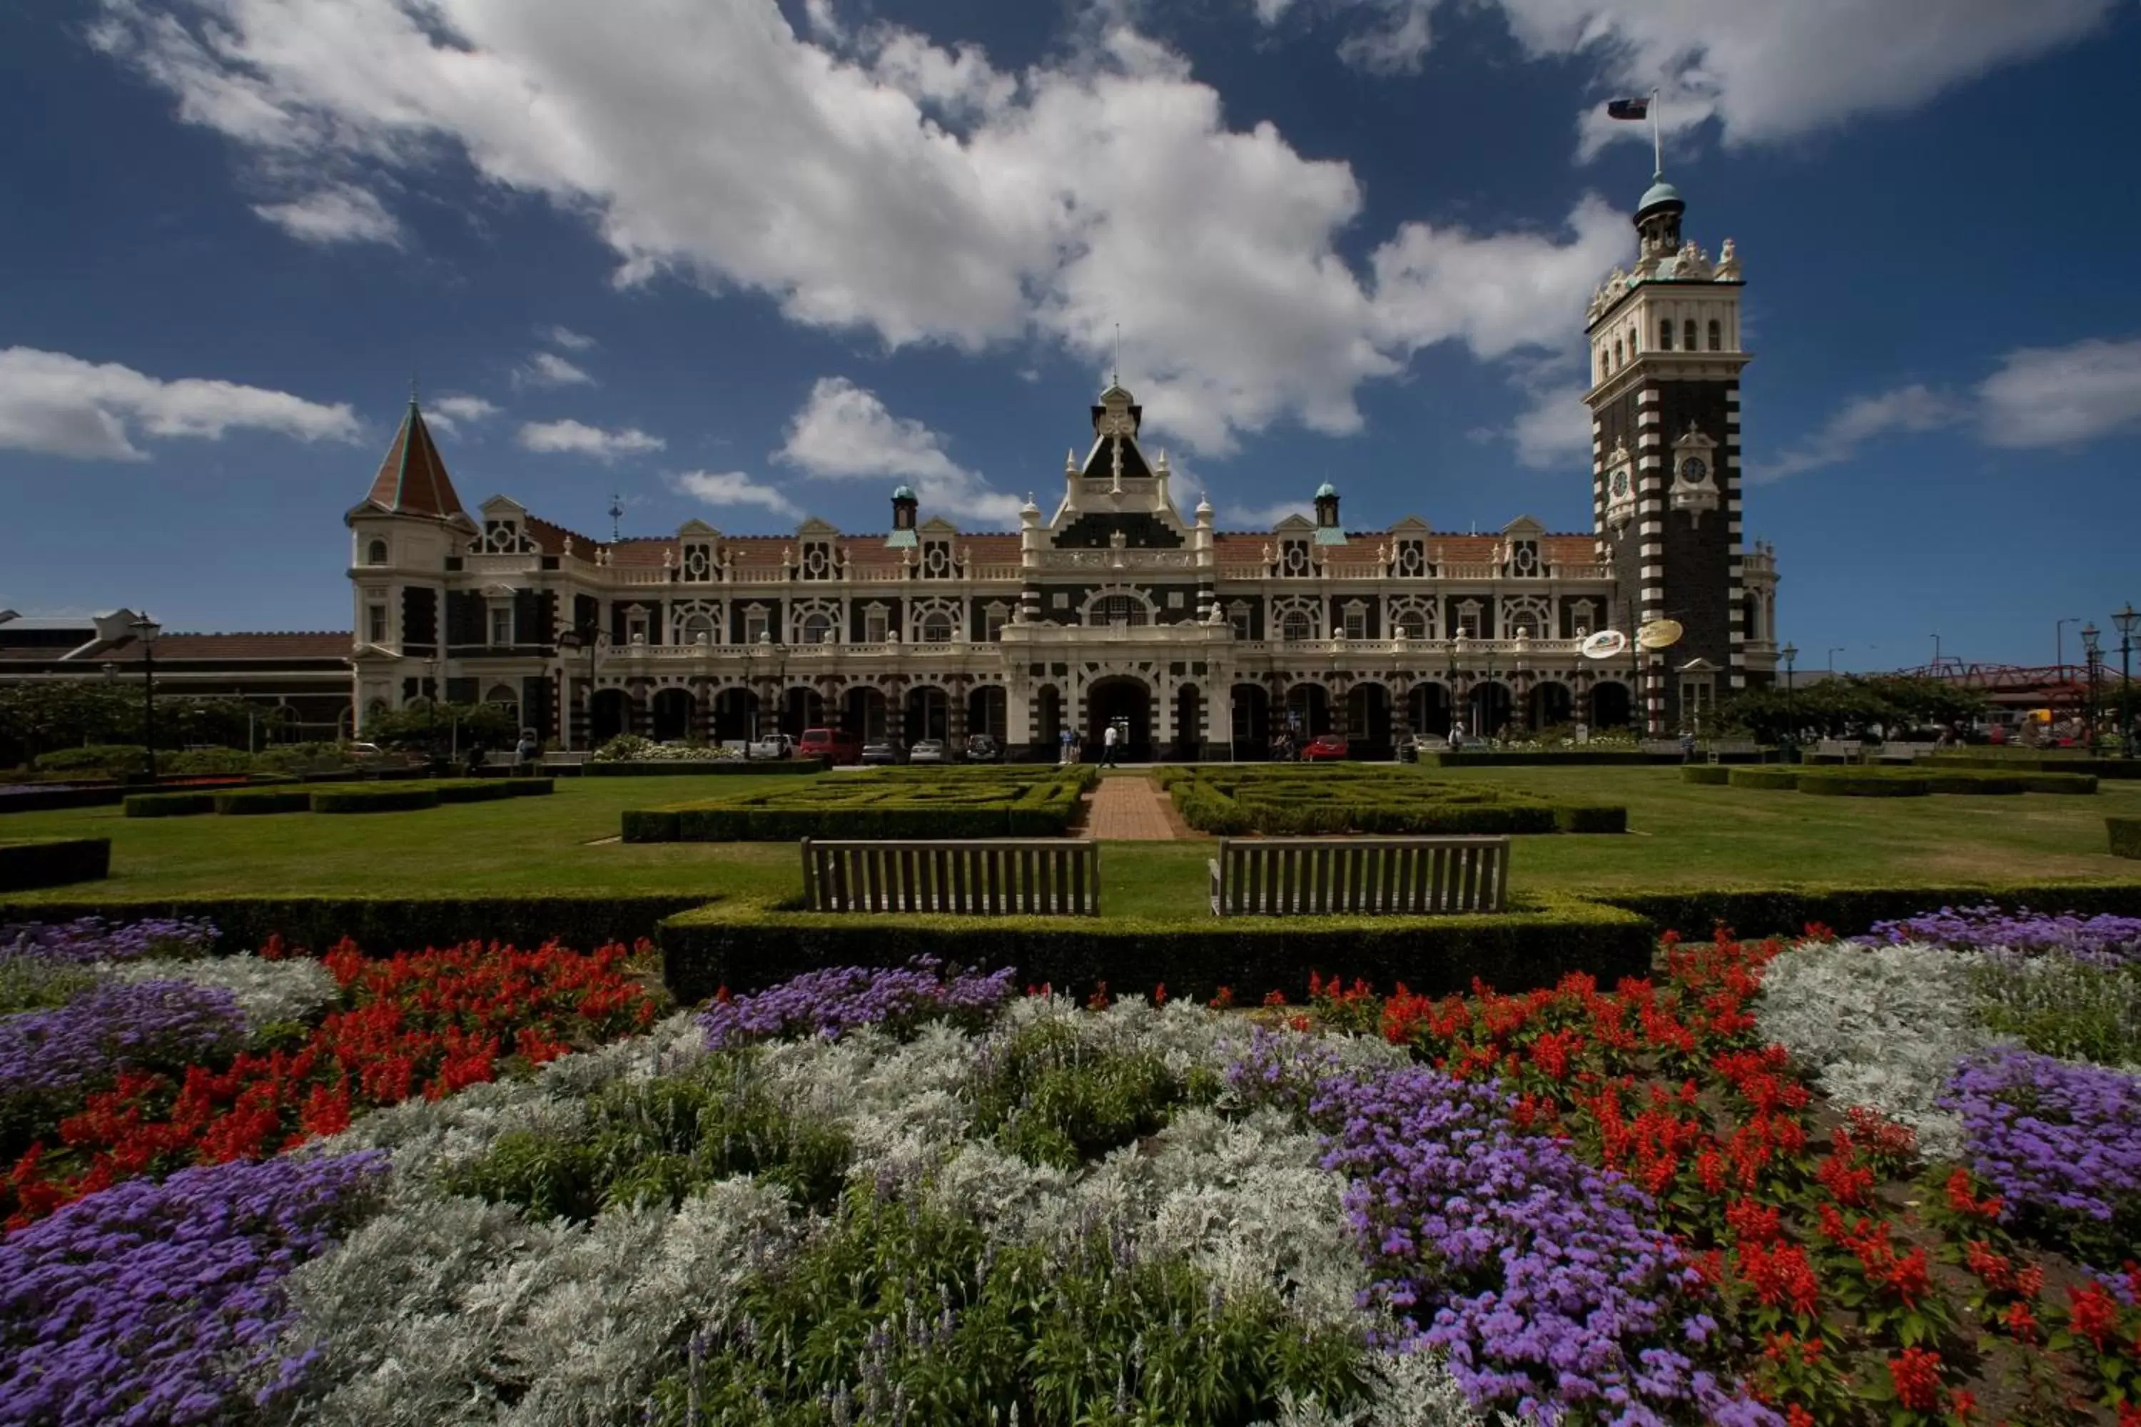
[[[1512,892],[1492,916],[1430,918],[961,918],[811,914],[788,905],[724,901],[662,924],[662,978],[681,1001],[719,986],[747,991],[824,965],[899,965],[929,954],[951,963],[1017,967],[1021,982],[1088,991],[1109,982],[1205,999],[1233,986],[1306,999],[1308,973],[1366,976],[1419,993],[1550,986],[1565,971],[1604,982],[1651,967],[1651,926],[1629,911],[1567,896]]]

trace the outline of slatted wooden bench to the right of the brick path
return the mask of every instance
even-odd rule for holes
[[[1220,839],[1214,916],[1501,911],[1505,837]]]

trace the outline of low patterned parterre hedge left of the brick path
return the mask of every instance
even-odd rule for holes
[[[805,837],[1060,837],[1094,768],[829,779],[623,815],[627,843],[792,843]]]

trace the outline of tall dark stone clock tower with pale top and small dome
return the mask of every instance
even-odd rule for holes
[[[1672,736],[1709,723],[1709,708],[1747,685],[1741,552],[1738,374],[1741,265],[1732,240],[1717,259],[1681,235],[1687,203],[1653,175],[1636,205],[1636,265],[1614,267],[1591,297],[1591,513],[1614,567],[1629,638],[1676,620],[1681,640],[1640,650],[1642,725]]]

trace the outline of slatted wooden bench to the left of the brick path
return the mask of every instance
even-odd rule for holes
[[[803,839],[811,911],[1096,916],[1100,845],[1083,839],[942,843]]]

